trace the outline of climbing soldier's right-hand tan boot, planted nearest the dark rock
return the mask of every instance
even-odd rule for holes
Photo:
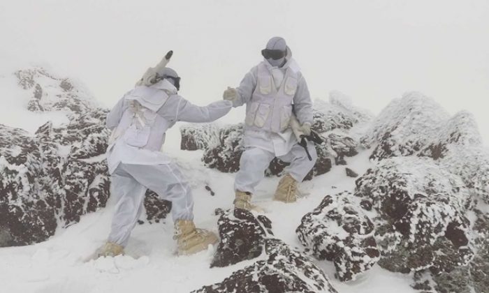
[[[177,240],[178,255],[198,253],[206,250],[209,244],[219,241],[216,234],[204,229],[196,229],[191,220],[177,220],[173,239]]]

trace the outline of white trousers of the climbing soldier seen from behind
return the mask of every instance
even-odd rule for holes
[[[120,163],[110,176],[110,195],[115,197],[115,213],[108,241],[126,246],[133,227],[143,211],[147,189],[172,202],[175,220],[194,219],[194,200],[187,180],[175,163],[129,165]]]

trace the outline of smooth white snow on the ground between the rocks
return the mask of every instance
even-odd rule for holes
[[[175,129],[175,128],[174,128]],[[169,133],[176,138],[177,133]],[[200,162],[201,151],[180,151],[178,140],[168,140],[166,151],[187,172],[194,190],[196,225],[217,230],[214,209],[228,208],[233,201],[233,174],[208,170]],[[370,167],[368,151],[354,158],[346,158],[349,166],[362,174]],[[274,232],[292,246],[300,247],[295,227],[302,216],[314,209],[324,195],[340,190],[352,190],[354,179],[346,177],[344,166],[333,166],[325,175],[303,184],[309,195],[296,204],[272,202],[271,195],[278,178],[266,178],[258,186],[255,197],[268,211]],[[208,185],[214,190],[211,196],[205,190]],[[177,257],[173,223],[137,225],[133,230],[126,256],[84,260],[101,246],[108,235],[113,202],[96,213],[82,216],[80,223],[67,229],[59,228],[55,236],[32,246],[0,248],[0,279],[3,292],[57,293],[57,292],[135,292],[161,290],[165,292],[189,292],[203,285],[217,283],[232,271],[250,265],[254,260],[240,262],[226,268],[209,268],[213,250],[197,255]],[[138,257],[140,256],[140,257]],[[328,262],[319,262],[333,280],[339,292],[384,292],[395,287],[397,292],[414,292],[409,276],[389,273],[375,266],[365,276],[352,283],[334,280],[334,269]],[[366,286],[367,285],[367,286]],[[367,290],[367,291],[365,291]]]

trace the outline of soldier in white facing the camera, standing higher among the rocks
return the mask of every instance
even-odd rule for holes
[[[274,37],[261,54],[265,59],[251,68],[240,87],[228,87],[223,95],[233,102],[233,107],[246,104],[245,151],[235,178],[234,204],[247,210],[253,209],[254,188],[273,158],[291,163],[275,191],[274,200],[281,202],[297,200],[298,182],[302,182],[317,158],[314,144],[307,142],[301,147],[300,137],[294,135],[310,135],[312,101],[290,48],[284,38]],[[299,129],[291,129],[291,120],[298,121]]]

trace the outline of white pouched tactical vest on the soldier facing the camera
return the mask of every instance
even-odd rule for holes
[[[249,130],[281,133],[289,127],[298,77],[290,68],[277,89],[272,74],[262,62],[258,65],[256,88],[246,105],[245,125]]]

